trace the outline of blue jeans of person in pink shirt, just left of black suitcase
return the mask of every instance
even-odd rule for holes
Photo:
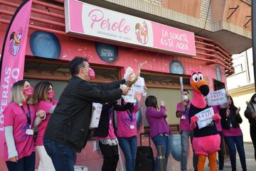
[[[118,138],[119,146],[124,153],[125,168],[127,171],[135,170],[135,160],[137,153],[137,136],[131,138]]]

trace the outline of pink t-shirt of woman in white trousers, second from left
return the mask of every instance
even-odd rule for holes
[[[58,101],[54,101],[54,104],[57,104]],[[36,145],[43,145],[43,134],[46,131],[48,121],[50,120],[49,111],[53,107],[53,102],[48,102],[41,100],[37,105],[37,111],[43,110],[46,111],[46,118],[38,125],[38,136],[36,138]]]

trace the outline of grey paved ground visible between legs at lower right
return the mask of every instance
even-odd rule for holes
[[[252,143],[245,143],[245,158],[246,158],[247,171],[255,171],[256,162],[255,162],[254,148]],[[236,165],[237,165],[237,171],[242,171],[238,153],[237,153]],[[205,167],[205,171],[209,171],[209,170],[210,170],[209,167]],[[218,166],[217,166],[217,170],[218,170]],[[232,171],[229,158],[225,158],[224,171]]]

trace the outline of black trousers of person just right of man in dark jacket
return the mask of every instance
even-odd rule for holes
[[[99,142],[103,155],[102,171],[116,171],[119,160],[118,145],[104,145]]]

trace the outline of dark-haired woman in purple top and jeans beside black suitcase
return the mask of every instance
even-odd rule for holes
[[[166,107],[164,101],[160,102],[160,111],[157,105],[156,96],[148,96],[145,101],[146,105],[146,120],[150,126],[150,137],[154,142],[154,145],[164,145],[164,152],[166,158],[166,165],[170,154],[170,142],[169,136],[171,129],[166,121]],[[154,164],[154,170],[158,171],[157,157]]]

